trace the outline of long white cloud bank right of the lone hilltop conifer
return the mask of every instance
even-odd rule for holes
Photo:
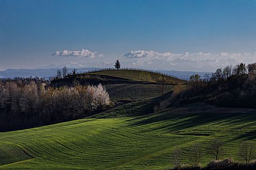
[[[240,62],[249,64],[256,62],[256,53],[228,53],[221,52],[212,54],[211,52],[184,52],[173,54],[171,52],[156,52],[137,50],[130,51],[123,55],[131,58],[133,65],[148,69],[181,70],[181,71],[215,71],[227,65],[236,65]]]

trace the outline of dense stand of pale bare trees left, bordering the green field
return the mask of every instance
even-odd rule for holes
[[[47,87],[41,81],[0,81],[0,130],[82,118],[111,105],[103,85]]]

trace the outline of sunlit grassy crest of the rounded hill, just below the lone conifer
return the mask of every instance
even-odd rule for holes
[[[183,80],[176,79],[175,77],[161,75],[150,71],[139,71],[139,70],[105,70],[105,71],[95,71],[89,74],[100,74],[108,76],[117,76],[125,79],[135,80],[135,81],[149,81],[149,82],[166,82],[166,83],[178,83],[184,82]]]

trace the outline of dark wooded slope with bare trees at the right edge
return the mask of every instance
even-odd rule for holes
[[[218,106],[256,108],[256,63],[226,66],[204,77],[192,75],[186,96]]]

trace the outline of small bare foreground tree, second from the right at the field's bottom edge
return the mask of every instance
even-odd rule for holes
[[[208,148],[208,154],[215,157],[216,161],[223,153],[224,142],[220,139],[213,139]]]

